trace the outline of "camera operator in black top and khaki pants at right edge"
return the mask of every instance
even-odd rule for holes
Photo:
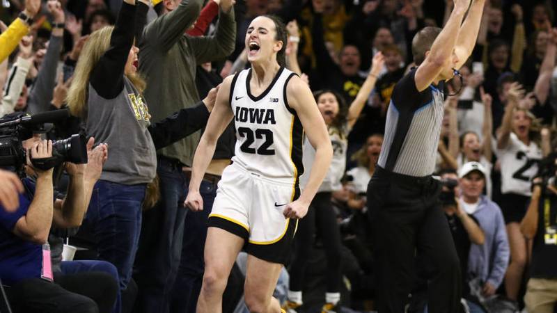
[[[557,186],[556,155],[548,157],[548,177],[533,181],[533,192],[520,231],[533,239],[531,275],[524,303],[528,313],[554,312],[557,303]],[[544,170],[540,165],[540,170]]]

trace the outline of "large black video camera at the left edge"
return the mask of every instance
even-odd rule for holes
[[[56,110],[36,115],[15,113],[6,115],[0,120],[0,166],[12,167],[24,176],[26,151],[23,141],[33,137],[33,133],[45,132],[49,122],[68,118],[68,110]],[[48,170],[61,163],[87,163],[86,138],[81,134],[74,134],[70,138],[52,142],[52,157],[32,159],[33,166]]]

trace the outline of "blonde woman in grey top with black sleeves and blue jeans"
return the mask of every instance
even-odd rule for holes
[[[124,0],[116,25],[91,33],[67,98],[70,112],[84,121],[87,136],[111,150],[85,220],[100,259],[118,268],[122,290],[132,274],[142,202],[157,168],[156,150],[203,127],[216,96],[214,88],[203,103],[150,123],[142,96],[145,83],[137,73],[139,49],[134,46],[147,10],[148,0]]]

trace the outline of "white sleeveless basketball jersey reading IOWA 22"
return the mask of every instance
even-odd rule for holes
[[[281,67],[269,87],[253,96],[251,69],[235,75],[230,86],[230,107],[236,127],[232,161],[256,175],[287,184],[299,183],[304,129],[286,99],[286,84],[295,75]]]

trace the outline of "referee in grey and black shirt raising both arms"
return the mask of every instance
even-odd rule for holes
[[[485,0],[454,0],[444,27],[426,27],[412,40],[417,68],[400,79],[387,112],[385,137],[368,184],[379,313],[404,312],[414,257],[432,267],[428,310],[460,312],[457,254],[432,179],[444,114],[444,81],[470,56]],[[466,19],[464,23],[464,15]]]

